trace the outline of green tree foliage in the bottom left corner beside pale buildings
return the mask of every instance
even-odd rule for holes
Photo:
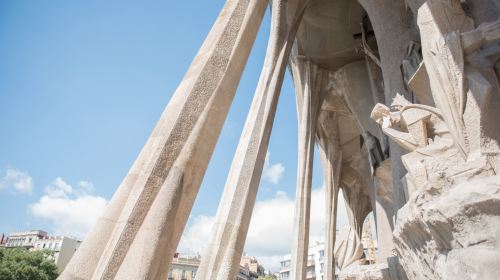
[[[53,280],[57,275],[50,251],[0,248],[0,280]]]

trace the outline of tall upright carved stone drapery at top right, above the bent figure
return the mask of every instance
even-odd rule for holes
[[[418,25],[432,95],[454,145],[468,161],[487,157],[498,172],[500,132],[491,120],[500,114],[493,68],[500,47],[491,44],[500,39],[499,22],[474,28],[458,0],[429,0]]]

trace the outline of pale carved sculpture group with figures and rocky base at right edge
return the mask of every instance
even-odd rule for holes
[[[489,259],[498,259],[500,244],[493,206],[500,137],[492,125],[500,113],[500,25],[475,28],[453,0],[428,0],[418,24],[437,108],[397,97],[372,112],[409,151],[402,161],[414,193],[398,213],[395,248],[410,279],[493,279],[498,270]]]

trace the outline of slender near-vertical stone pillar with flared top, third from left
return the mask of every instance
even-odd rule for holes
[[[328,72],[308,60],[297,57],[292,64],[292,73],[297,91],[299,151],[290,278],[305,279],[309,248],[314,140],[324,95],[323,81],[324,77],[328,77]]]

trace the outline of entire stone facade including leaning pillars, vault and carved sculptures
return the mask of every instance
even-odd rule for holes
[[[60,279],[167,277],[267,4],[227,1]],[[325,279],[333,279],[336,263],[343,279],[498,276],[500,2],[269,6],[264,67],[196,279],[238,273],[287,67],[299,127],[290,279],[307,274],[314,145],[326,187]],[[336,244],[339,199],[350,230]],[[370,212],[375,264],[367,264],[360,245]]]

